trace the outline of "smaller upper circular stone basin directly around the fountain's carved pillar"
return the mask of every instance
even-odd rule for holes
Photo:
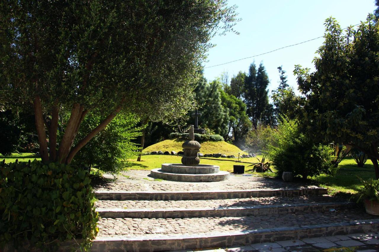
[[[220,171],[218,165],[183,165],[181,163],[163,163],[161,170],[179,174],[213,174]]]

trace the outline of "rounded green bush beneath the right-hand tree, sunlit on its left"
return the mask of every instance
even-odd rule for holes
[[[302,134],[297,121],[284,119],[273,131],[272,137],[267,154],[277,176],[282,176],[283,171],[291,171],[294,176],[301,175],[303,179],[321,173],[336,173],[337,168],[332,165],[332,148],[314,143]]]

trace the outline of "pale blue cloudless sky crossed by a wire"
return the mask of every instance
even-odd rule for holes
[[[238,6],[238,17],[242,20],[234,28],[240,35],[227,33],[226,36],[213,37],[211,42],[216,47],[208,52],[205,67],[323,36],[324,20],[330,16],[335,17],[343,28],[356,25],[376,9],[374,0],[229,0],[229,5]],[[254,60],[257,66],[262,61],[270,79],[270,93],[278,85],[277,67],[280,65],[287,72],[288,84],[297,89],[292,73],[294,65],[313,70],[312,59],[323,41],[320,38],[262,56],[204,68],[204,75],[211,81],[225,71],[229,73],[230,81],[238,71],[247,72]]]

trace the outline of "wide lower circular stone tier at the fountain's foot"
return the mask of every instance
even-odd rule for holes
[[[169,173],[162,171],[160,168],[150,171],[150,176],[157,179],[174,180],[182,182],[218,182],[229,179],[229,172],[219,171],[211,174],[182,174]]]

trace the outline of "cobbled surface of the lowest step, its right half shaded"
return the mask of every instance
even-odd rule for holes
[[[287,215],[208,217],[183,219],[132,219],[102,218],[97,237],[153,236],[167,237],[215,232],[236,232],[250,229],[269,229],[275,227],[299,227],[335,222],[348,222],[359,219],[373,219],[362,210],[343,210],[340,212],[307,212]]]

